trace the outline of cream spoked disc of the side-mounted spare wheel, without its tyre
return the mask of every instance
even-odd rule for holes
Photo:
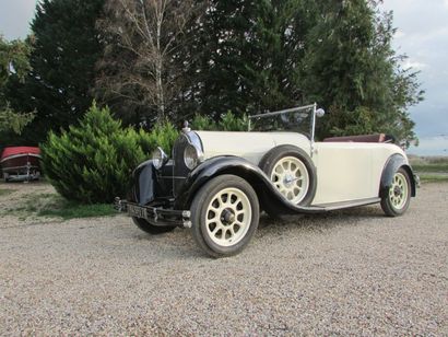
[[[309,188],[308,170],[299,159],[285,156],[275,163],[271,182],[290,202],[297,205]]]

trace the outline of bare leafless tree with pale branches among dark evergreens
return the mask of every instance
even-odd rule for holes
[[[181,92],[184,60],[176,59],[186,32],[200,13],[193,0],[108,0],[98,97],[128,121],[167,117]],[[123,106],[126,108],[123,108]],[[121,113],[120,113],[121,112]],[[137,118],[135,118],[137,116]]]

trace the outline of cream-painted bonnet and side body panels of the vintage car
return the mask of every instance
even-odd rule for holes
[[[311,154],[309,139],[295,132],[197,131],[204,159],[236,155],[259,165],[271,149],[292,144]],[[316,142],[311,156],[317,171],[317,190],[311,205],[378,197],[381,173],[396,153],[403,150],[390,143]]]

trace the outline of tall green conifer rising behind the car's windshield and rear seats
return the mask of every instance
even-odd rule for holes
[[[314,1],[316,2],[316,1]],[[303,60],[308,101],[329,114],[319,135],[388,132],[415,139],[406,108],[423,97],[416,73],[391,47],[392,14],[375,1],[317,1]]]

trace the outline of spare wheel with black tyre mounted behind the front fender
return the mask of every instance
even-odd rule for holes
[[[313,201],[316,168],[305,151],[293,146],[276,147],[263,156],[260,167],[291,204],[307,206]]]

